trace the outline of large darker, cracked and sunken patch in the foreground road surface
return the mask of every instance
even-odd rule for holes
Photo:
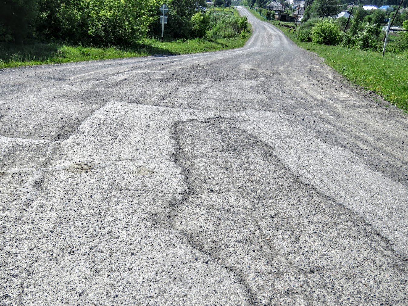
[[[173,140],[188,190],[151,218],[232,271],[248,304],[406,302],[389,288],[407,293],[407,262],[356,213],[304,184],[271,146],[226,118],[175,122]],[[370,275],[381,283],[366,286]],[[356,290],[359,298],[348,294]]]

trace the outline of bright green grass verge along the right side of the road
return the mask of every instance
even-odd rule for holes
[[[256,12],[254,15],[260,20],[265,20]],[[289,33],[289,28],[278,26],[279,22],[275,20],[269,22],[281,29],[299,47],[324,58],[325,64],[333,67],[354,84],[374,91],[384,100],[408,111],[408,53],[398,55],[388,52],[382,58],[382,52],[299,42],[293,31]]]

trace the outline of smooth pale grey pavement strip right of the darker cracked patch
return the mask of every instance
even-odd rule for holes
[[[373,171],[353,153],[325,144],[292,116],[263,111],[240,118],[244,121],[239,126],[275,148],[282,163],[305,183],[364,217],[397,252],[408,255],[406,187]]]

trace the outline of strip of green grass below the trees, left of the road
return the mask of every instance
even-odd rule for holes
[[[86,60],[107,60],[157,54],[186,54],[244,46],[248,38],[217,40],[173,40],[161,42],[145,39],[133,47],[73,47],[64,44],[0,44],[0,69],[39,64],[81,62]]]

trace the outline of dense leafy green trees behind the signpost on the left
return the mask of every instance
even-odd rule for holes
[[[160,35],[164,0],[2,0],[0,41],[131,44]],[[195,38],[211,28],[205,0],[166,0],[166,36]],[[205,20],[204,20],[205,21]]]

